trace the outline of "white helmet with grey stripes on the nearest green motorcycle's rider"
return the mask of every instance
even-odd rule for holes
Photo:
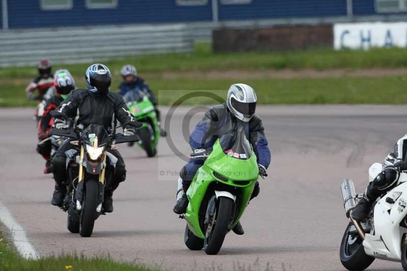
[[[256,93],[251,86],[238,83],[229,87],[227,108],[241,121],[250,121],[256,111],[256,102]]]

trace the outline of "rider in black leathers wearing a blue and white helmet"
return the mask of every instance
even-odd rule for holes
[[[77,128],[84,129],[90,124],[99,124],[104,126],[108,132],[111,132],[116,120],[121,124],[132,123],[135,127],[142,126],[130,113],[122,97],[117,93],[109,92],[111,73],[106,66],[102,64],[91,65],[86,70],[85,80],[87,88],[75,89],[56,108],[57,111],[65,114],[68,118],[74,119],[74,125]],[[54,127],[57,129],[67,129],[67,120],[56,118],[54,120]],[[123,131],[125,136],[134,135],[136,132],[130,125],[125,125]],[[79,151],[79,147],[65,142],[57,150],[51,162],[55,179],[55,191],[51,200],[52,205],[61,206],[65,197],[66,189],[63,186],[67,179],[65,152],[69,149]],[[126,179],[126,168],[124,160],[117,150],[108,149],[107,152],[118,158],[112,185],[104,194],[104,212],[111,213],[113,212],[113,191]]]

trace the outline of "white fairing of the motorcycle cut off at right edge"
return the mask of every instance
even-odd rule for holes
[[[401,173],[399,179],[404,182],[374,206],[374,235],[366,234],[363,241],[366,254],[375,258],[401,261],[401,239],[407,233],[407,228],[400,226],[407,216],[407,173]],[[396,200],[391,203],[387,198]]]

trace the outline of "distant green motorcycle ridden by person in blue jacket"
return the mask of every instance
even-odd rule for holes
[[[143,123],[143,126],[137,130],[140,137],[137,144],[146,150],[148,157],[154,157],[157,154],[160,127],[153,103],[146,94],[137,89],[126,93],[123,100],[137,121]]]

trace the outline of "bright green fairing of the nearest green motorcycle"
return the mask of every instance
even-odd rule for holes
[[[227,181],[217,178],[213,172],[227,176]],[[189,205],[185,218],[189,229],[199,238],[205,238],[205,234],[199,225],[199,207],[203,198],[207,193],[209,185],[213,182],[219,182],[241,190],[241,206],[240,212],[232,224],[234,227],[243,215],[250,196],[253,192],[254,185],[258,179],[257,158],[254,152],[247,160],[241,160],[234,157],[229,157],[223,153],[222,147],[219,144],[219,139],[216,140],[213,151],[209,155],[202,167],[200,167],[194,176],[192,183],[187,191]],[[249,183],[239,184],[239,181],[249,181]],[[239,206],[238,206],[239,207]]]

